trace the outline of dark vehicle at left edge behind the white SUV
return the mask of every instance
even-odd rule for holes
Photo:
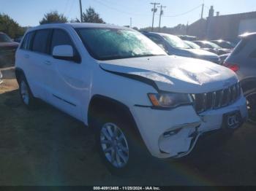
[[[6,64],[14,64],[17,42],[12,42],[7,34],[0,32],[0,67]]]

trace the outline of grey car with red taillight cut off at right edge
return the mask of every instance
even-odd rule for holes
[[[224,66],[238,75],[247,99],[249,121],[256,124],[256,33],[240,37],[241,41],[226,59]]]

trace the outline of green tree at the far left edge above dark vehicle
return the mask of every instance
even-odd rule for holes
[[[15,38],[23,36],[26,28],[20,27],[20,25],[9,15],[0,14],[0,31],[9,35],[11,38]]]

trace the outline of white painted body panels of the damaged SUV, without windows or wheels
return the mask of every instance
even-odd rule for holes
[[[194,137],[197,139],[203,132],[221,128],[222,116],[227,112],[238,110],[241,116],[246,118],[246,101],[242,95],[230,106],[201,114],[197,114],[191,105],[168,110],[152,109],[148,93],[208,93],[236,84],[238,78],[233,71],[208,61],[168,55],[97,61],[83,46],[74,30],[75,27],[106,26],[54,24],[39,26],[29,31],[41,28],[64,29],[80,53],[80,63],[62,61],[50,55],[19,48],[15,66],[17,69],[23,69],[34,96],[76,117],[86,125],[91,98],[94,95],[112,98],[129,108],[151,155],[165,158],[187,155],[196,143],[196,140],[192,140],[192,134],[197,133]],[[150,79],[157,88],[122,74]],[[181,130],[175,136],[163,136],[166,131],[177,128]]]

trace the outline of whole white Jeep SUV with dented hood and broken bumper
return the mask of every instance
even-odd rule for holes
[[[130,28],[38,26],[26,32],[15,60],[23,103],[42,99],[93,128],[115,173],[144,150],[158,158],[188,155],[202,133],[238,128],[247,117],[233,71],[166,55]]]

